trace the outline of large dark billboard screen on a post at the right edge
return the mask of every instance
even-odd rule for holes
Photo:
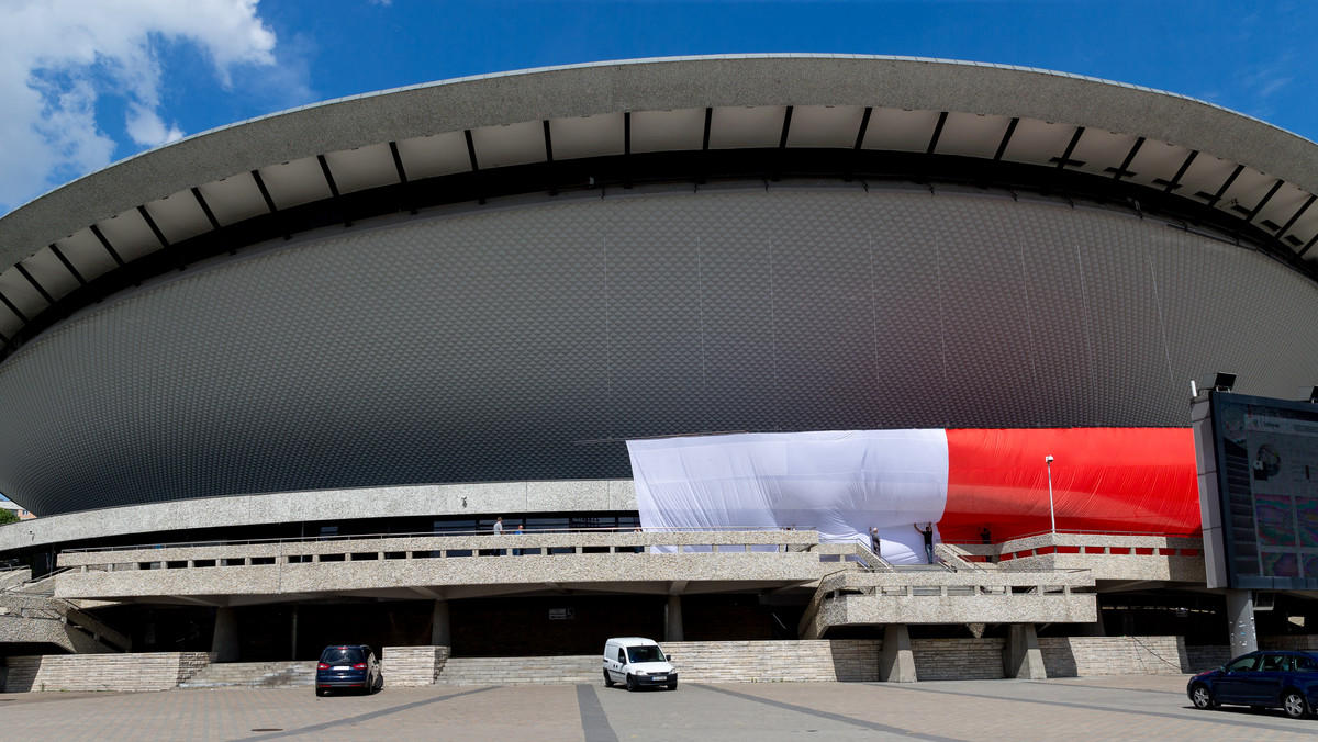
[[[1195,445],[1210,586],[1318,589],[1318,405],[1211,391]]]

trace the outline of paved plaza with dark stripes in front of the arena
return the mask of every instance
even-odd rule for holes
[[[1184,676],[1043,681],[683,684],[7,693],[7,739],[1313,739],[1318,720],[1199,712]]]

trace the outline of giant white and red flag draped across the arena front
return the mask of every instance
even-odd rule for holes
[[[924,561],[916,526],[1199,534],[1189,428],[878,430],[629,440],[646,528],[813,528]],[[1052,456],[1053,510],[1049,510]]]

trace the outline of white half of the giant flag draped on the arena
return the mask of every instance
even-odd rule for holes
[[[630,440],[646,528],[799,527],[924,561],[912,527],[942,518],[942,430],[824,431]]]

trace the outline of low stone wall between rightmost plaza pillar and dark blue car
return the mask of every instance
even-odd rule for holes
[[[1040,637],[1049,677],[1190,672],[1184,637]]]

